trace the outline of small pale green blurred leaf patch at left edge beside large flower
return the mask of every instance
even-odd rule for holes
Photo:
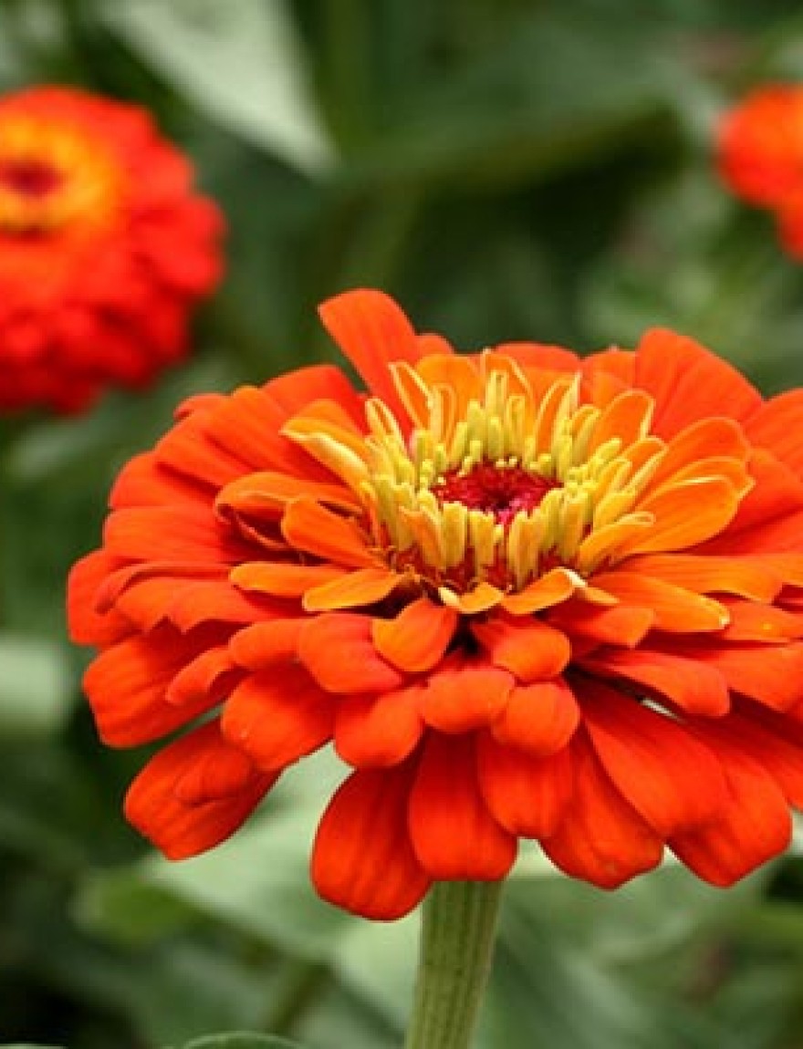
[[[70,711],[64,650],[43,638],[0,634],[0,737],[29,740],[57,732]]]

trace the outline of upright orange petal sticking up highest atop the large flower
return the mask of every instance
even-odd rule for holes
[[[422,356],[416,331],[387,295],[358,288],[338,295],[319,307],[323,325],[368,389],[397,413],[402,408],[388,364],[415,364]],[[401,412],[403,418],[403,411]]]

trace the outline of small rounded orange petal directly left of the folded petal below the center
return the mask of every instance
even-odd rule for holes
[[[329,692],[388,692],[404,677],[374,647],[371,619],[358,613],[323,613],[304,623],[298,658]]]

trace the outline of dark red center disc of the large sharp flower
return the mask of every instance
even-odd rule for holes
[[[547,492],[556,487],[554,481],[520,466],[479,463],[466,474],[449,471],[432,488],[432,494],[441,505],[462,502],[469,510],[493,514],[507,527],[520,511],[529,512],[540,507]]]

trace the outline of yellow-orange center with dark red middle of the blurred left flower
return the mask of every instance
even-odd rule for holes
[[[0,122],[0,232],[31,237],[76,221],[104,226],[121,181],[111,158],[70,127],[35,116]]]

